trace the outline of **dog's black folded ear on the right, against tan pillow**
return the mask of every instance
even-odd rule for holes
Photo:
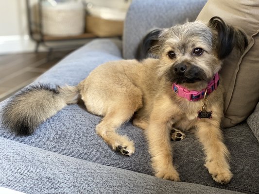
[[[226,58],[235,47],[241,53],[247,47],[246,35],[241,30],[226,25],[222,18],[212,17],[208,27],[216,32],[216,50],[219,59]]]

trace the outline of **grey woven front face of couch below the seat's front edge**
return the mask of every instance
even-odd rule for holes
[[[240,194],[162,180],[4,138],[0,147],[0,157],[5,159],[0,160],[0,191],[4,186],[26,194]]]

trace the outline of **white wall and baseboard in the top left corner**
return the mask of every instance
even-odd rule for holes
[[[32,1],[33,2],[33,1]],[[33,51],[25,0],[0,0],[0,54]]]

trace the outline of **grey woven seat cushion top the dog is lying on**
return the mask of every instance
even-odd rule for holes
[[[2,104],[3,106],[3,104]],[[1,116],[0,116],[1,121]],[[136,153],[130,157],[112,151],[95,132],[101,117],[87,113],[83,106],[71,105],[43,123],[33,135],[19,137],[0,123],[0,136],[30,146],[70,157],[114,166],[153,176],[150,155],[141,129],[126,123],[120,133],[134,140]],[[259,144],[246,123],[224,129],[226,145],[231,153],[233,179],[219,185],[208,174],[202,147],[193,134],[180,142],[172,142],[174,164],[183,182],[202,184],[244,193],[259,193]]]

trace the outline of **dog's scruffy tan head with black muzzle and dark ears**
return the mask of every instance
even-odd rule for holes
[[[151,53],[160,59],[159,76],[172,83],[192,84],[210,81],[235,47],[243,52],[246,46],[242,31],[213,17],[207,25],[195,21],[154,30],[144,38],[140,52],[142,57]]]

